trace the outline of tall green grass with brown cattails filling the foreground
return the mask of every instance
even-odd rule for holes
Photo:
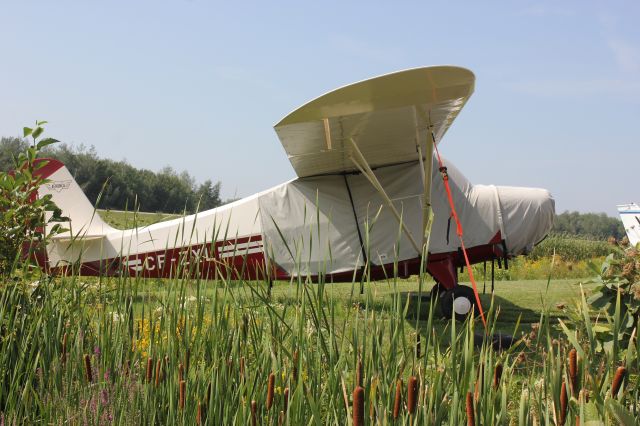
[[[5,424],[194,424],[198,413],[202,424],[250,424],[254,416],[261,424],[391,424],[398,383],[402,424],[458,425],[469,410],[475,424],[638,418],[637,339],[599,351],[591,334],[563,324],[559,335],[545,312],[522,342],[497,351],[493,308],[485,333],[472,320],[443,325],[427,306],[422,320],[408,320],[415,298],[396,294],[376,304],[369,285],[362,296],[355,288],[336,300],[323,282],[300,278],[281,304],[269,297],[267,282],[176,278],[155,310],[144,303],[142,281],[4,283]],[[217,289],[209,300],[200,296],[208,286]],[[588,330],[592,319],[581,305]],[[570,377],[571,349],[577,378]],[[614,392],[619,366],[627,373]],[[577,388],[566,386],[571,380]],[[354,414],[360,402],[352,398],[361,393],[365,406]]]

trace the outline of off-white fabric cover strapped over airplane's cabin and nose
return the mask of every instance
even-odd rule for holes
[[[472,185],[451,163],[445,163],[467,248],[487,244],[500,232],[509,254],[523,254],[551,228],[554,206],[546,190]],[[419,244],[423,191],[418,162],[374,172]],[[455,221],[449,222],[451,210],[435,159],[432,179],[434,222],[429,252],[455,252],[460,241]],[[346,181],[353,206],[342,175],[296,179],[260,196],[267,255],[289,274],[337,273],[362,266],[356,217],[373,264],[420,256],[366,178],[349,174]]]

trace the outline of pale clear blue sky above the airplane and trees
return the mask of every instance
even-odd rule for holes
[[[246,196],[295,176],[272,129],[293,109],[453,64],[476,92],[441,150],[473,182],[614,215],[640,202],[639,22],[637,1],[0,1],[0,135],[46,119]]]

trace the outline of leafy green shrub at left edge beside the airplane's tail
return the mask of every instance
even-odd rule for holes
[[[0,276],[28,264],[34,253],[44,250],[49,237],[65,231],[58,223],[65,218],[51,196],[37,195],[38,188],[47,182],[38,173],[47,161],[39,160],[38,154],[58,142],[52,138],[39,140],[44,124],[46,121],[37,121],[35,127],[23,129],[24,137],[31,137],[33,144],[15,158],[13,171],[0,172]]]

